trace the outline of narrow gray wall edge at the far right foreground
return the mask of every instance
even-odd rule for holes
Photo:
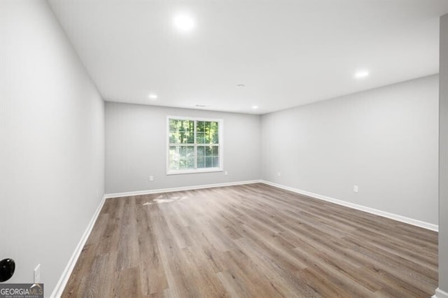
[[[439,113],[439,289],[448,297],[448,15],[440,18]]]

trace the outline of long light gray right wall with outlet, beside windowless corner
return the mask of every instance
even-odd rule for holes
[[[429,76],[263,115],[262,178],[437,225],[437,102]]]

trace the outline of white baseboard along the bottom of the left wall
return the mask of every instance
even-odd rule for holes
[[[69,281],[71,271],[73,271],[73,268],[75,267],[76,262],[78,261],[78,257],[84,248],[85,241],[87,241],[87,238],[89,238],[90,232],[92,232],[93,226],[94,226],[95,222],[97,221],[99,211],[101,211],[101,209],[103,208],[104,201],[106,201],[106,197],[103,197],[102,200],[99,202],[99,206],[98,206],[97,210],[93,214],[93,217],[89,222],[89,225],[87,225],[87,228],[85,229],[84,234],[78,243],[78,246],[76,246],[75,251],[73,251],[73,254],[70,257],[69,263],[66,265],[64,271],[62,272],[62,276],[59,278],[59,281],[57,281],[57,284],[56,284],[55,288],[53,289],[53,292],[51,293],[50,297],[59,298],[62,296],[62,292],[64,292],[66,283]]]

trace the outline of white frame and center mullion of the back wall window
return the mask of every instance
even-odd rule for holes
[[[208,122],[218,122],[218,152],[219,152],[219,167],[214,168],[195,168],[195,169],[185,169],[185,170],[172,170],[169,169],[169,120],[175,119],[175,120],[191,120],[191,121],[208,121]],[[224,169],[223,161],[223,148],[224,148],[224,120],[223,119],[216,119],[216,118],[197,118],[197,117],[186,117],[186,116],[167,116],[167,148],[165,150],[167,154],[167,175],[178,175],[178,174],[184,174],[184,173],[211,173],[211,172],[222,172]],[[197,146],[204,145],[204,144],[197,144],[196,143],[196,125],[195,125],[195,143],[193,144],[195,148],[195,166],[197,166]]]

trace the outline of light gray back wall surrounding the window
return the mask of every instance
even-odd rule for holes
[[[260,179],[260,116],[106,103],[106,193]],[[167,115],[224,120],[224,170],[166,174]],[[149,181],[154,176],[154,181]]]

